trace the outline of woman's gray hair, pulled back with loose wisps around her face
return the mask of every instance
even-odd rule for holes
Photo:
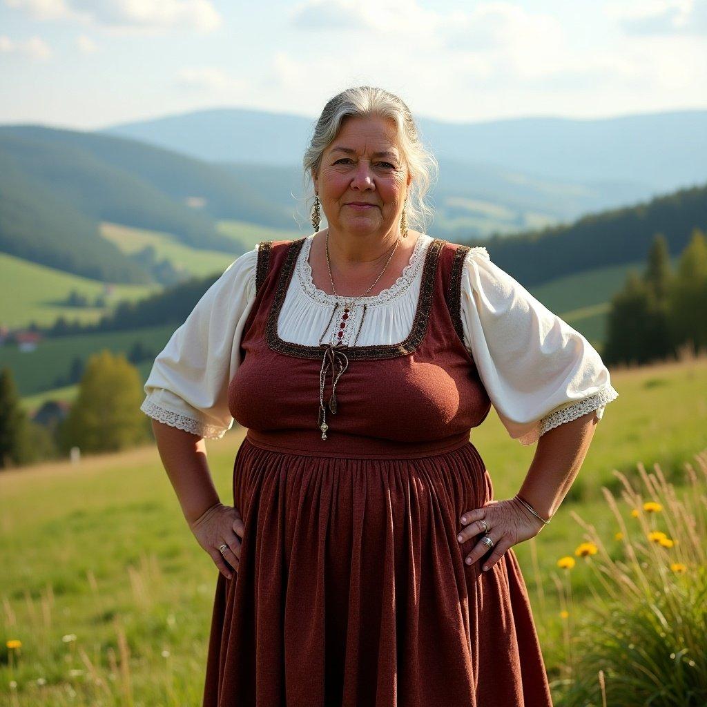
[[[407,194],[405,216],[410,228],[425,233],[433,216],[433,210],[426,203],[426,195],[438,175],[439,165],[431,151],[422,144],[410,109],[402,98],[373,86],[347,88],[330,98],[322,110],[303,158],[307,214],[311,213],[315,199],[312,170],[319,172],[322,155],[339,133],[341,122],[347,117],[373,116],[390,118],[397,125],[398,145],[413,177]]]

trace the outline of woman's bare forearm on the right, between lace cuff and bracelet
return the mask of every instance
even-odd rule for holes
[[[599,418],[596,411],[540,436],[518,495],[549,520],[570,490],[585,460]]]

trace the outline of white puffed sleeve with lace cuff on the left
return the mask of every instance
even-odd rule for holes
[[[155,359],[140,409],[172,427],[220,439],[233,426],[228,384],[255,300],[257,247],[235,259],[204,293]]]

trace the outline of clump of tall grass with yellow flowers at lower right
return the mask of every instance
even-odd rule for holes
[[[586,541],[592,599],[575,615],[573,558],[559,561],[566,660],[561,707],[707,705],[707,450],[685,465],[680,493],[660,465],[620,472],[620,497],[602,489],[616,534],[602,538],[572,511]]]

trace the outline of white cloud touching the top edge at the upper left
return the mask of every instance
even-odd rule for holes
[[[5,0],[37,20],[65,19],[116,33],[187,29],[210,32],[221,25],[211,0]]]

